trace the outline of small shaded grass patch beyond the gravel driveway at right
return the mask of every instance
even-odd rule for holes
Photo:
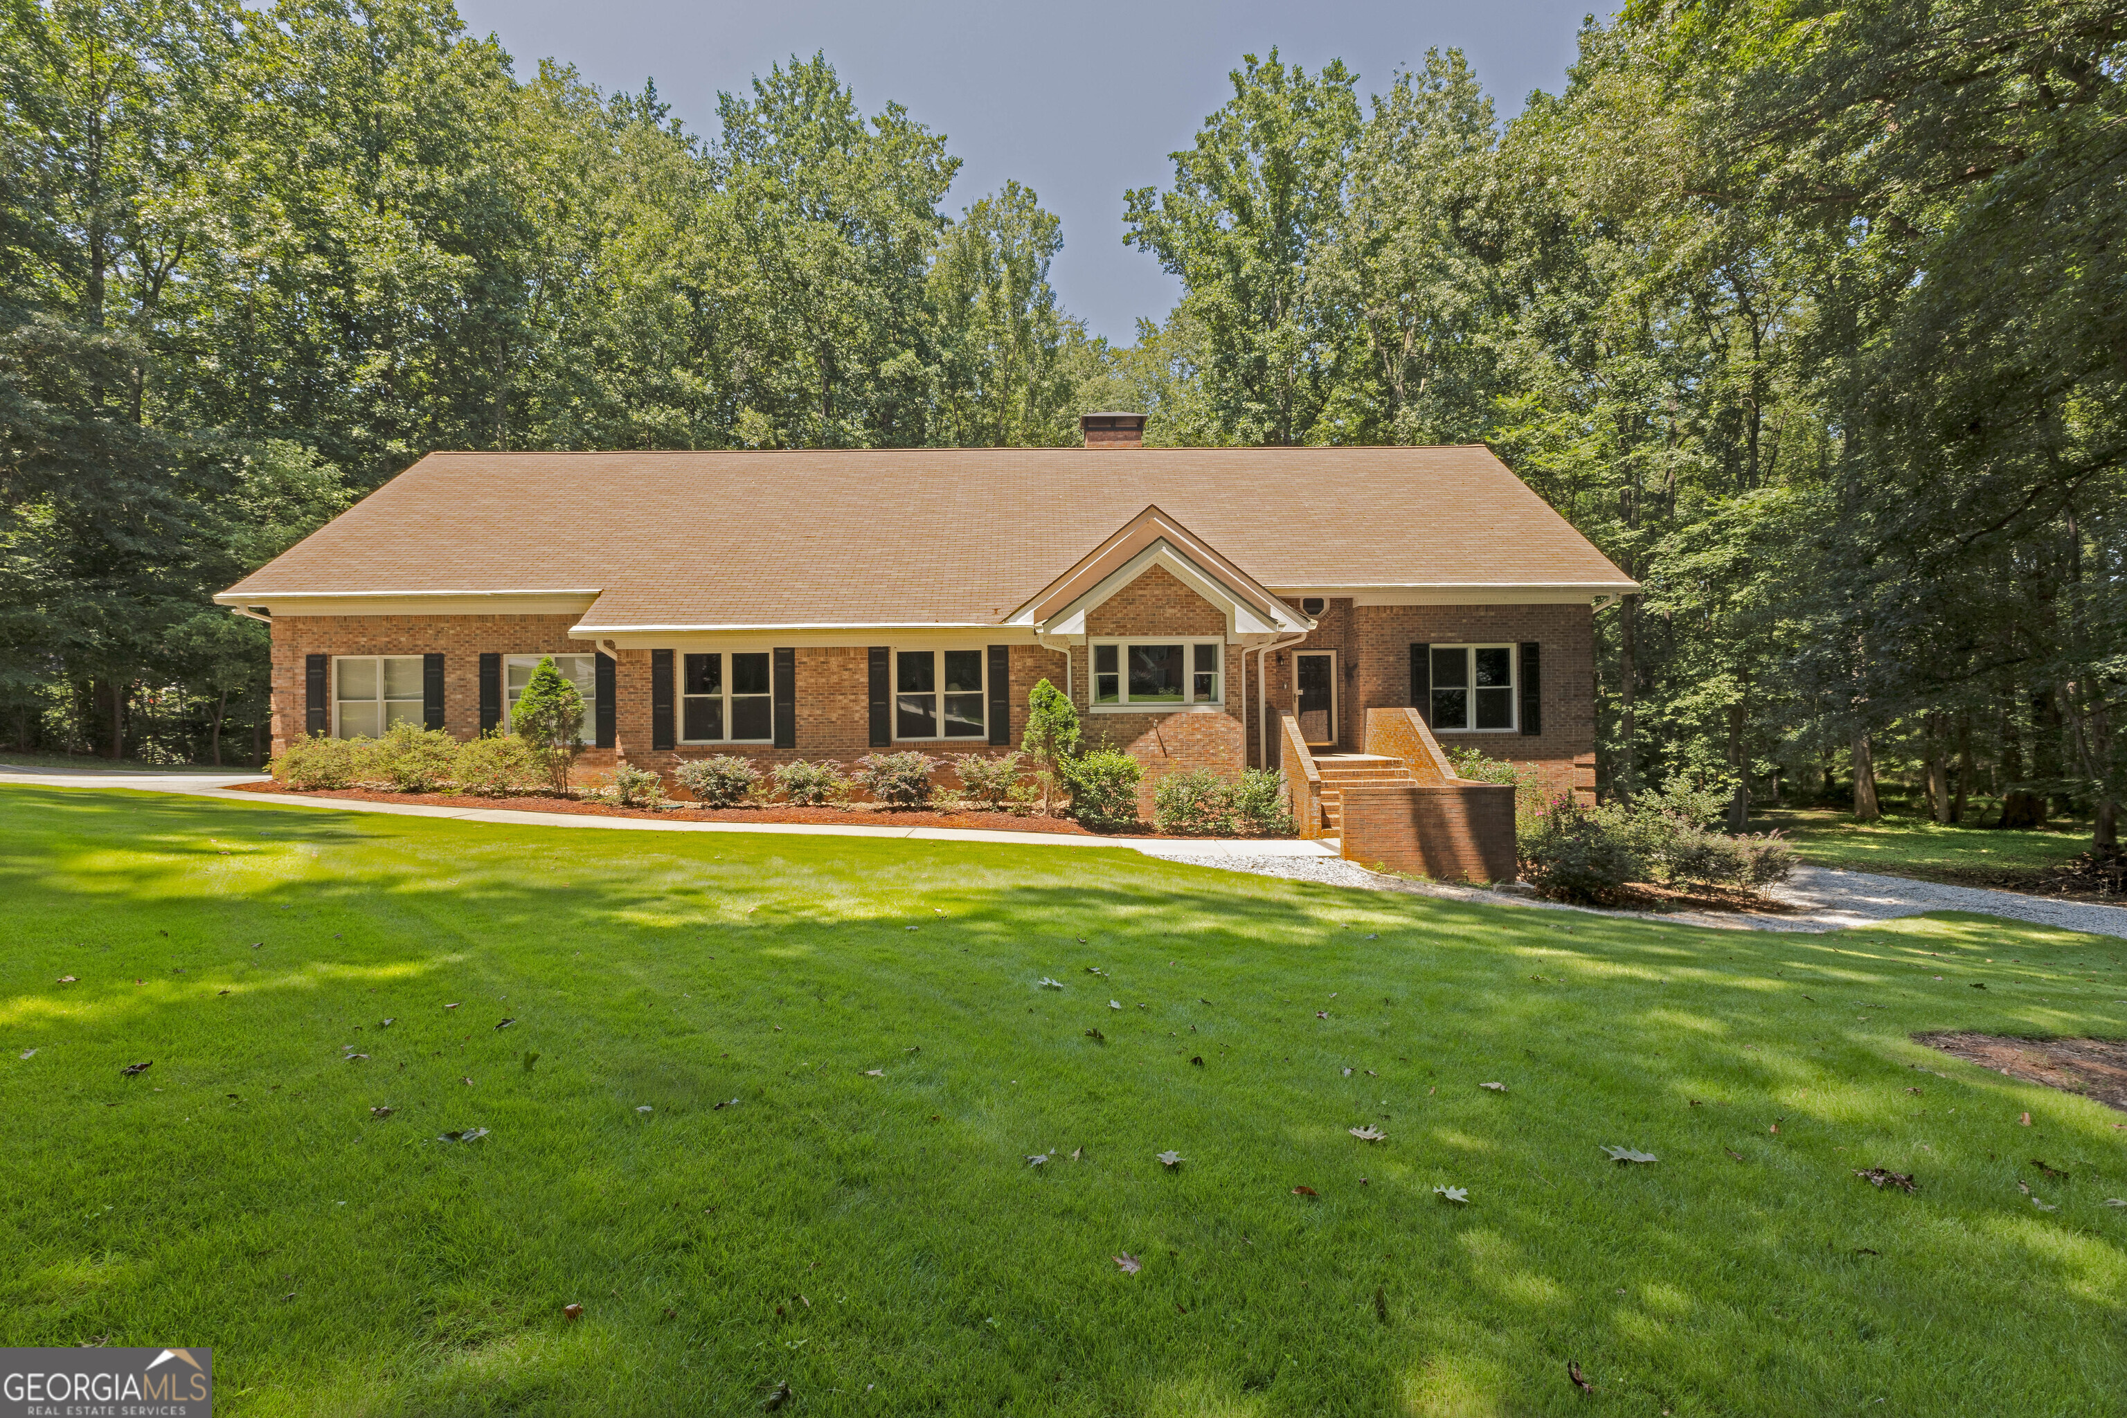
[[[1857,823],[1853,812],[1831,808],[1751,814],[1751,831],[1774,827],[1795,842],[1797,857],[1819,867],[1887,872],[1959,887],[2014,887],[2016,878],[2036,878],[2042,870],[2091,850],[2089,823],[2046,831],[1993,831],[1944,827],[1925,816]]]

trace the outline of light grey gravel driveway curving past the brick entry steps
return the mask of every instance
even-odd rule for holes
[[[1380,876],[1342,857],[1193,857],[1185,850],[1153,850],[1153,857],[1168,861],[1189,861],[1225,872],[1257,872],[1261,876],[1289,876],[1295,880],[1325,882],[1332,887],[1363,887],[1370,891],[1408,891],[1414,895],[1446,897],[1451,901],[1478,901],[1485,906],[1529,906],[1536,910],[1576,910],[1600,916],[1648,918],[1651,912],[1593,910],[1587,906],[1559,906],[1538,901],[1525,889],[1487,891],[1480,887],[1448,887],[1442,882],[1412,882],[1400,876]],[[1833,867],[1795,867],[1795,874],[1780,887],[1765,891],[1776,901],[1787,901],[1793,914],[1759,912],[1661,912],[1661,921],[1682,921],[1687,925],[1710,925],[1746,931],[1842,931],[1872,921],[1895,916],[1919,916],[1931,910],[1967,910],[1982,916],[2008,916],[2010,921],[2031,921],[2063,931],[2089,931],[2091,935],[2118,935],[2127,940],[2127,906],[2095,906],[2089,901],[2061,901],[2055,897],[2029,897],[2014,891],[1980,891],[1976,887],[1938,887],[1908,876],[1876,876],[1872,872],[1838,872]]]

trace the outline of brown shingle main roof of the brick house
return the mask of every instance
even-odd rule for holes
[[[1278,591],[1631,580],[1485,446],[430,453],[219,600],[598,589],[587,625],[989,625],[1159,504]]]

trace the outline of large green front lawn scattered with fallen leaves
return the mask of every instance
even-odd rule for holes
[[[4,1341],[223,1414],[2127,1407],[2127,1118],[1908,1040],[2118,940],[62,789],[0,893]]]

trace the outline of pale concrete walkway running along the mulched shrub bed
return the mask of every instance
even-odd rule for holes
[[[353,797],[302,797],[294,793],[242,793],[238,782],[259,782],[264,774],[157,774],[153,770],[79,770],[79,767],[13,767],[0,765],[0,782],[49,789],[132,789],[136,793],[177,793],[183,797],[215,797],[249,808],[287,804],[296,808],[332,808],[336,812],[385,812],[396,816],[447,816],[466,823],[500,823],[504,827],[600,827],[606,831],[755,831],[789,838],[915,838],[919,842],[1006,842],[1012,846],[1127,846],[1149,857],[1187,853],[1189,857],[1336,857],[1336,842],[1300,842],[1270,838],[1095,838],[1064,831],[989,831],[974,827],[842,827],[838,823],[664,823],[649,816],[596,816],[589,812],[517,812],[510,808],[430,808],[425,804],[379,804]]]

